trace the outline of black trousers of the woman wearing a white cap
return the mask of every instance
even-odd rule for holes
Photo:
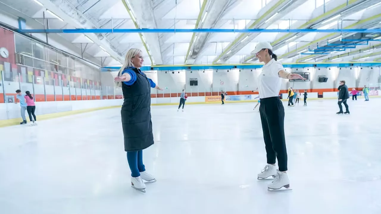
[[[261,114],[267,163],[274,164],[275,158],[277,158],[279,170],[287,171],[287,149],[284,130],[285,110],[282,101],[280,101],[279,97],[261,99],[259,113]]]

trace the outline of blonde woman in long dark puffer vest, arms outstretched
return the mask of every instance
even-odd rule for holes
[[[154,144],[151,121],[151,88],[163,90],[139,69],[143,66],[142,51],[131,48],[120,68],[115,84],[122,87],[124,102],[122,105],[122,127],[124,148],[131,169],[131,187],[146,192],[144,183],[156,182],[146,172],[143,164],[143,149]]]

